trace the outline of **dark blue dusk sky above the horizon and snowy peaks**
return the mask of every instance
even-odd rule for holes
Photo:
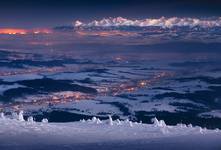
[[[0,28],[69,25],[104,17],[221,16],[220,0],[1,0]]]

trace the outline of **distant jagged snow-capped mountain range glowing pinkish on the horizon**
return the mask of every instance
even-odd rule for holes
[[[182,31],[221,31],[221,17],[219,18],[165,18],[130,20],[122,17],[104,18],[83,23],[79,20],[73,25],[58,26],[55,30],[123,30],[123,31],[148,31],[148,30],[182,30]]]

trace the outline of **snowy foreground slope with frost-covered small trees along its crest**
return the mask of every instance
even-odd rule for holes
[[[220,149],[221,131],[191,125],[167,126],[97,118],[72,123],[0,117],[0,149]]]

